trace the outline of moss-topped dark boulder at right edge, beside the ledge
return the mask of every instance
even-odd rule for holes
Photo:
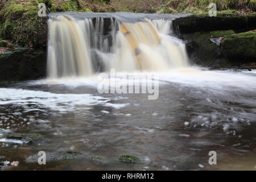
[[[256,60],[256,31],[226,36],[221,41],[221,53],[234,60]]]

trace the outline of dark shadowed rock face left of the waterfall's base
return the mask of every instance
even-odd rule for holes
[[[0,81],[22,81],[46,77],[46,49],[31,51],[16,47],[0,53]]]

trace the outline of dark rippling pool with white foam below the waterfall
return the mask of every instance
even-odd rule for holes
[[[200,69],[158,73],[157,100],[147,94],[98,94],[97,77],[2,84],[0,127],[38,133],[44,140],[2,140],[1,155],[20,162],[9,170],[255,170],[255,71]],[[40,150],[81,151],[109,163],[24,163]],[[217,165],[208,163],[209,151],[217,152]],[[142,164],[119,163],[122,154],[137,155]]]

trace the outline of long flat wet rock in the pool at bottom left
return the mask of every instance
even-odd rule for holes
[[[25,159],[25,163],[37,163],[39,155],[32,155]],[[77,151],[61,151],[61,152],[46,152],[46,163],[58,160],[80,159],[85,158],[86,155]]]

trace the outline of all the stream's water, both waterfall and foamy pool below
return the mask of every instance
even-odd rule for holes
[[[44,138],[29,145],[2,137],[1,155],[20,162],[10,169],[254,170],[255,71],[191,67],[184,43],[172,34],[178,16],[51,14],[47,78],[0,85],[0,127]],[[126,85],[127,73],[141,87],[151,81],[143,76],[156,75],[158,99],[100,94],[98,75],[111,69],[110,87]],[[80,151],[108,162],[24,163],[41,150]],[[209,151],[217,152],[217,165],[208,163]],[[120,163],[122,154],[137,155],[142,164]]]

